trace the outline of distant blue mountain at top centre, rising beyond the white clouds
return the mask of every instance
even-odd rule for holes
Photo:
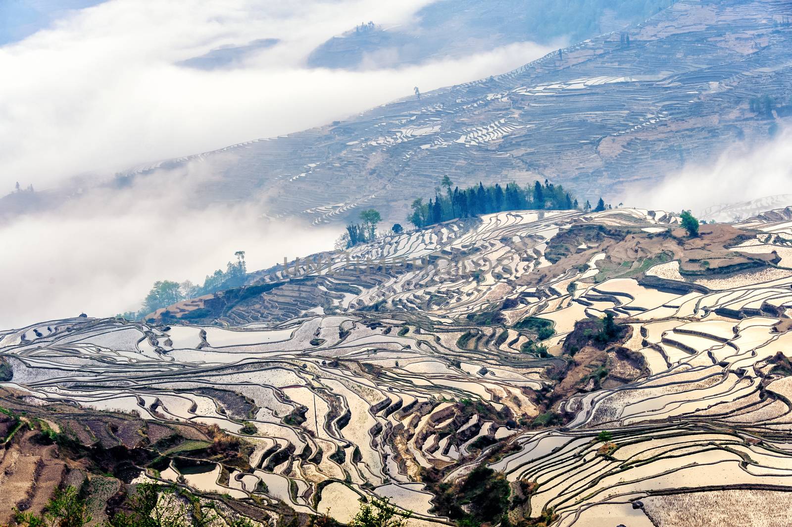
[[[310,55],[310,66],[388,67],[464,56],[529,40],[580,42],[643,21],[669,0],[440,0],[392,28],[364,21]]]

